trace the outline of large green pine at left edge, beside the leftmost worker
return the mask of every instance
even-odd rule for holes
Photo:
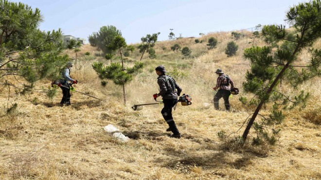
[[[9,93],[14,88],[16,93],[24,94],[39,79],[60,78],[59,70],[69,60],[59,55],[64,49],[60,29],[40,31],[40,10],[21,2],[0,0],[0,8],[0,86]]]

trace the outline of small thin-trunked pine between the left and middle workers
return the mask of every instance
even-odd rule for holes
[[[109,66],[104,66],[103,63],[96,62],[92,64],[93,69],[97,72],[99,78],[101,79],[111,79],[116,85],[123,86],[123,97],[124,104],[126,104],[126,90],[125,84],[130,82],[133,79],[135,73],[139,72],[143,68],[143,63],[136,62],[134,67],[125,68],[123,54],[124,51],[133,51],[132,46],[127,46],[125,38],[122,36],[116,36],[111,41],[108,47],[112,51],[117,51],[121,56],[122,64],[120,63],[111,63]],[[106,82],[103,81],[102,85],[106,85]]]

